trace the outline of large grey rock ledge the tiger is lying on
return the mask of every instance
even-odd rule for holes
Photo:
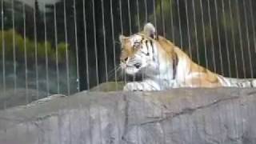
[[[256,143],[255,89],[54,95],[0,111],[0,143]]]

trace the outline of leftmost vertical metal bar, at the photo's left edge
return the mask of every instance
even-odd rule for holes
[[[1,23],[2,23],[2,93],[5,96],[6,95],[6,43],[5,43],[5,34],[4,34],[4,0],[1,1]],[[5,102],[6,103],[6,102]],[[4,104],[6,105],[6,104]]]

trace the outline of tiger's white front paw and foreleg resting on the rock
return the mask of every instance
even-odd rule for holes
[[[158,82],[151,79],[146,79],[142,82],[128,82],[123,87],[124,91],[154,91],[161,90]]]

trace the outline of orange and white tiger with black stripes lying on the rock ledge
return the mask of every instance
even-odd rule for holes
[[[227,78],[193,62],[178,46],[156,34],[152,23],[121,43],[120,67],[126,74],[143,74],[140,82],[127,82],[125,91],[168,90],[181,87],[255,87],[254,78]]]

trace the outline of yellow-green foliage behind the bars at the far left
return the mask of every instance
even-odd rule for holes
[[[69,46],[66,45],[65,42],[58,43],[58,62],[63,62],[66,58],[66,48],[69,50]],[[3,48],[7,61],[13,58],[14,49],[18,61],[24,59],[25,51],[28,61],[34,59],[35,55],[37,55],[38,61],[44,61],[46,54],[48,55],[49,61],[56,61],[56,47],[52,46],[50,42],[34,42],[34,40],[29,38],[23,38],[22,35],[18,34],[15,30],[0,31],[1,56]]]

